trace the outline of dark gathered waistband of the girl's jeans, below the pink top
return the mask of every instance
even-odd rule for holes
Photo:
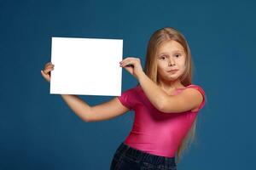
[[[117,151],[119,153],[122,152],[125,156],[132,157],[138,161],[146,161],[154,165],[165,164],[170,166],[176,166],[175,157],[156,156],[153,154],[149,154],[147,152],[144,152],[143,150],[137,150],[135,148],[132,148],[128,144],[125,144],[125,142],[122,142],[119,145]]]

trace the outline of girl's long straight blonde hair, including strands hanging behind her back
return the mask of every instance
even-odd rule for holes
[[[189,45],[185,37],[183,37],[183,34],[172,27],[161,28],[160,30],[155,31],[154,34],[150,37],[148,42],[145,67],[143,68],[143,71],[152,81],[154,81],[157,84],[158,77],[157,60],[155,57],[156,52],[162,42],[166,42],[169,40],[179,42],[184,48],[184,52],[186,54],[185,71],[183,72],[183,75],[179,77],[179,79],[183,86],[189,86],[192,83],[192,67],[194,67]],[[178,146],[177,162],[180,161],[183,151],[188,148],[190,144],[189,141],[191,141],[192,143],[192,141],[195,139],[195,127],[197,122],[196,117],[195,121],[193,122],[192,126],[189,129],[189,133],[187,133],[182,143]]]

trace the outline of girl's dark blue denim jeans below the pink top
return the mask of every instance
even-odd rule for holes
[[[110,170],[162,169],[177,170],[175,157],[156,156],[131,148],[122,142],[113,155]]]

